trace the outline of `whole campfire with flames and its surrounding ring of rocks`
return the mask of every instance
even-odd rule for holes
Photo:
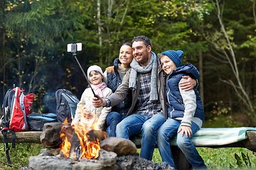
[[[46,123],[40,137],[46,149],[30,157],[28,169],[170,169],[137,154],[131,140],[107,137],[101,130],[86,130],[80,126],[63,123]],[[61,150],[61,151],[60,151]]]

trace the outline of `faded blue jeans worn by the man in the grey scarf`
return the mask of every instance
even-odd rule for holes
[[[117,137],[129,139],[130,136],[142,132],[142,149],[140,156],[151,160],[156,145],[156,132],[164,123],[164,115],[129,115],[117,125]]]

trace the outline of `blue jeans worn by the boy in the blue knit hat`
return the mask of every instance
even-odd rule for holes
[[[171,154],[170,140],[172,137],[177,135],[176,142],[178,148],[181,149],[183,154],[185,154],[186,159],[193,166],[193,169],[206,169],[206,165],[204,164],[202,157],[198,154],[193,142],[191,142],[191,138],[200,128],[198,125],[196,125],[196,123],[192,122],[192,135],[191,137],[186,137],[186,135],[182,136],[181,133],[177,134],[180,125],[181,120],[168,118],[157,132],[157,145],[159,147],[162,162],[166,162],[176,169],[174,164],[174,156]]]

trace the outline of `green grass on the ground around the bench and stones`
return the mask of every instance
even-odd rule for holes
[[[28,158],[37,155],[42,145],[36,144],[17,144],[16,149],[9,151],[12,164],[7,164],[6,154],[4,152],[4,144],[0,145],[0,169],[16,170],[28,165]],[[212,149],[207,147],[197,148],[198,152],[203,157],[209,170],[222,169],[256,169],[256,154],[245,148],[219,148]],[[140,152],[140,149],[138,149]],[[235,158],[235,154],[238,154]],[[243,156],[242,156],[243,154]],[[246,156],[246,157],[245,157]],[[249,159],[247,159],[247,156]],[[238,158],[239,157],[239,158]],[[240,160],[240,162],[238,161]],[[158,149],[155,149],[153,162],[161,164],[161,157]],[[251,163],[251,165],[250,165]]]

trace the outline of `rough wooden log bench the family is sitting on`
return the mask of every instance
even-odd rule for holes
[[[203,128],[206,129],[206,128]],[[218,129],[218,128],[217,128]],[[199,130],[198,132],[200,132]],[[40,144],[40,135],[41,132],[38,131],[29,131],[29,132],[16,132],[16,142],[17,143],[38,143]],[[11,135],[7,136],[9,141],[11,141]],[[132,142],[137,146],[137,148],[141,147],[141,137],[132,137]],[[199,139],[200,140],[200,139]],[[0,135],[0,142],[3,142],[3,136]],[[196,147],[210,147],[210,148],[221,148],[221,147],[244,147],[252,152],[256,152],[256,131],[247,130],[245,134],[245,139],[240,140],[238,142],[231,142],[229,144],[219,144],[215,145],[203,145],[194,143]],[[174,140],[171,141],[171,150],[174,154],[174,162],[178,169],[191,169],[191,165],[187,162],[186,157],[181,152],[180,149],[176,146],[176,142]]]

